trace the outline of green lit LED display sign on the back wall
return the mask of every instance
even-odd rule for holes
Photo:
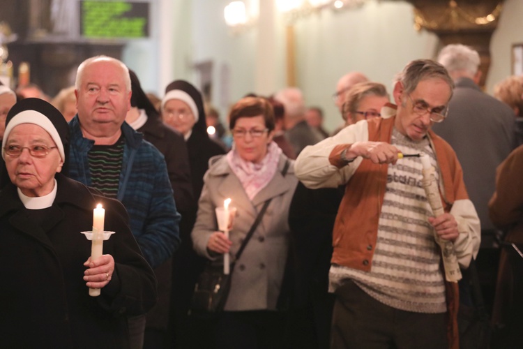
[[[80,34],[84,38],[146,38],[149,3],[80,1]]]

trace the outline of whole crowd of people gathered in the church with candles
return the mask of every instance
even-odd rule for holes
[[[245,94],[220,120],[190,82],[155,99],[106,56],[54,98],[0,85],[2,343],[457,349],[460,306],[476,306],[492,348],[517,348],[523,78],[489,96],[479,64],[453,44],[392,91],[348,73],[333,132],[296,87]],[[94,258],[80,232],[99,203],[114,235]],[[199,274],[228,260],[223,309],[192,312]]]

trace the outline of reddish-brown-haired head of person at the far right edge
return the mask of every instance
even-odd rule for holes
[[[494,97],[512,108],[516,117],[516,142],[523,144],[523,77],[509,76],[494,86]]]

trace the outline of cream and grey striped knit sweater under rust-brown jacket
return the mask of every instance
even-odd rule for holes
[[[429,141],[414,143],[393,130],[391,143],[403,154],[423,151],[437,162]],[[377,245],[370,272],[333,265],[331,288],[352,279],[374,299],[395,309],[419,313],[446,311],[439,248],[427,218],[432,210],[421,184],[419,158],[403,158],[388,166]]]

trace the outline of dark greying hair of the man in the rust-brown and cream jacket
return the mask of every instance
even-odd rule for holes
[[[402,83],[405,94],[411,94],[411,92],[418,87],[420,81],[433,77],[439,77],[444,80],[448,84],[448,87],[450,87],[450,96],[452,96],[454,89],[452,77],[448,75],[448,71],[444,66],[431,59],[416,59],[415,61],[411,61],[403,68],[400,74],[396,75],[395,81]]]

